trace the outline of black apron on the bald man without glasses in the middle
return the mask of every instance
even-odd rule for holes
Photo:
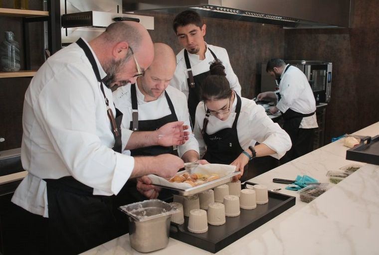
[[[165,90],[165,97],[167,100],[167,103],[169,105],[171,114],[165,117],[162,117],[157,120],[146,120],[146,121],[139,121],[138,120],[138,104],[137,104],[137,93],[136,93],[136,85],[132,84],[130,88],[130,94],[132,98],[132,109],[133,109],[133,120],[130,122],[130,130],[133,131],[154,131],[162,126],[171,123],[171,122],[177,122],[178,117],[175,113],[174,105],[167,94]],[[156,109],[159,110],[159,109]],[[138,148],[138,149],[132,149],[131,150],[131,155],[132,156],[156,156],[156,155],[161,155],[165,153],[171,153],[174,155],[178,155],[178,150],[176,146],[148,146],[148,147],[143,147],[143,148]]]

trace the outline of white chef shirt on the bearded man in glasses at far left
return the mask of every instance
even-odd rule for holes
[[[115,113],[112,92],[105,85],[104,91]],[[109,196],[121,190],[134,168],[133,157],[112,150],[115,139],[100,83],[76,43],[49,57],[31,80],[22,127],[21,161],[28,175],[11,201],[31,213],[48,217],[42,179],[71,175],[93,187],[94,195]]]

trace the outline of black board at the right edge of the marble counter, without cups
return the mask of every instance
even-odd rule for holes
[[[346,151],[346,159],[379,165],[379,135],[361,139],[359,145]]]

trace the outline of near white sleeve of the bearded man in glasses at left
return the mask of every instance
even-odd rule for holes
[[[117,194],[133,171],[134,159],[113,151],[112,138],[109,144],[100,140],[111,131],[97,129],[97,123],[106,119],[98,120],[104,102],[95,77],[88,77],[80,65],[67,69],[56,73],[38,94],[36,119],[75,179],[97,194]],[[107,118],[105,105],[102,118]]]

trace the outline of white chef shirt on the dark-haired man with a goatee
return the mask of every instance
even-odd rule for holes
[[[241,85],[239,84],[238,77],[233,72],[231,68],[229,56],[226,49],[206,44],[206,47],[211,49],[216,57],[221,60],[222,65],[225,67],[226,79],[229,81],[230,88],[232,88],[237,94],[241,95]],[[188,89],[188,72],[186,61],[184,58],[184,50],[182,49],[177,55],[177,69],[175,70],[174,78],[171,80],[170,85],[182,91],[187,99],[189,94]],[[209,50],[205,50],[205,58],[203,60],[199,59],[199,55],[191,54],[188,52],[189,63],[191,64],[192,75],[198,75],[209,71],[209,66],[211,62],[214,61],[214,57]]]

